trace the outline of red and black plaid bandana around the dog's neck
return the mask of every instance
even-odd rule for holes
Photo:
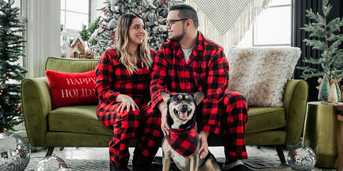
[[[199,135],[197,130],[197,122],[194,126],[188,129],[172,129],[168,130],[167,142],[181,156],[191,156],[198,147]]]

